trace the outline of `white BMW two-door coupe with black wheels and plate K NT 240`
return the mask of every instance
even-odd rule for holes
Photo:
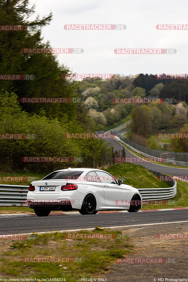
[[[27,204],[38,216],[48,216],[52,210],[78,210],[82,215],[99,210],[137,212],[142,208],[142,196],[136,188],[104,170],[68,168],[33,181]]]

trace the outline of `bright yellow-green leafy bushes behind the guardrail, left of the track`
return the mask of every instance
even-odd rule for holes
[[[67,168],[68,165],[67,162],[27,163],[22,162],[23,157],[70,157],[70,160],[81,157],[84,159],[84,166],[92,166],[93,147],[96,149],[96,160],[100,162],[101,148],[103,150],[109,148],[104,140],[87,139],[86,142],[84,138],[66,138],[67,133],[85,133],[85,129],[76,120],[62,123],[57,118],[44,116],[43,112],[41,110],[39,115],[26,113],[19,106],[19,99],[14,92],[10,94],[0,92],[0,133],[24,136],[29,134],[35,137],[35,139],[0,138],[0,170],[25,168],[33,171],[52,171]],[[71,162],[73,167],[78,165],[78,162]]]

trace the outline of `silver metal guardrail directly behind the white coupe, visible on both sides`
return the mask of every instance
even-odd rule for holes
[[[151,171],[156,176],[163,175],[155,171]],[[167,181],[169,183],[169,181]],[[173,184],[169,188],[140,188],[140,194],[143,200],[161,200],[161,199],[171,199],[177,193],[177,183],[176,180],[171,181]],[[0,184],[0,206],[21,206],[25,205],[27,192],[29,186],[23,185],[4,185]]]

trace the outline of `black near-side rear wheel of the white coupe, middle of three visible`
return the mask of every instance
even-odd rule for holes
[[[96,199],[92,194],[88,194],[85,196],[81,209],[79,210],[79,213],[82,215],[85,214],[96,214],[98,211],[96,211]]]

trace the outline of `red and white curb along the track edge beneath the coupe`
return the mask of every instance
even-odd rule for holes
[[[174,208],[174,209],[159,209],[159,210],[140,210],[138,212],[145,212],[145,211],[171,211],[171,210],[186,210],[188,208]],[[126,213],[128,211],[98,211],[96,215],[105,214],[105,213]],[[72,212],[56,212],[50,213],[48,216],[59,216],[59,215],[81,215],[79,211],[72,211]],[[7,214],[0,214],[0,218],[6,217],[33,217],[37,216],[35,213],[7,213]]]

